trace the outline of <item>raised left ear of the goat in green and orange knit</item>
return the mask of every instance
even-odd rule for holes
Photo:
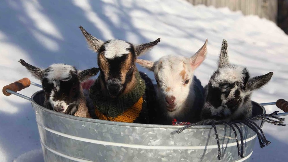
[[[104,42],[92,36],[82,26],[80,26],[79,28],[88,43],[89,49],[91,49],[92,51],[98,52],[99,48],[101,47],[101,45],[103,45]]]

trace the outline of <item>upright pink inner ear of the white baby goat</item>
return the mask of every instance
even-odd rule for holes
[[[208,39],[206,39],[204,45],[190,57],[189,62],[193,70],[195,70],[204,61],[207,54],[207,43]]]

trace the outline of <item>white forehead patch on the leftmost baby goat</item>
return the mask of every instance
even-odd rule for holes
[[[46,76],[49,82],[51,82],[53,79],[65,81],[67,78],[71,78],[70,71],[75,72],[73,66],[65,64],[52,64],[49,68],[50,71],[47,72]]]

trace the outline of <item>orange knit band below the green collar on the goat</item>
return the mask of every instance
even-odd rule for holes
[[[99,112],[99,110],[95,109],[95,114],[97,117],[101,120],[110,120],[110,121],[120,121],[120,122],[127,122],[127,123],[133,123],[133,121],[139,117],[139,114],[142,110],[142,104],[143,104],[143,97],[141,97],[138,102],[136,102],[133,106],[128,108],[126,111],[124,111],[122,114],[118,115],[117,117],[107,117],[106,115],[103,115]]]

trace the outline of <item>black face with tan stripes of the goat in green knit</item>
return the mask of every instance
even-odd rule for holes
[[[105,51],[104,46],[100,49],[103,51],[99,51],[102,56],[98,55],[98,66],[104,86],[111,97],[121,95],[133,77],[136,60],[134,48],[131,45],[128,49],[130,53],[113,59],[107,59],[101,54]]]

